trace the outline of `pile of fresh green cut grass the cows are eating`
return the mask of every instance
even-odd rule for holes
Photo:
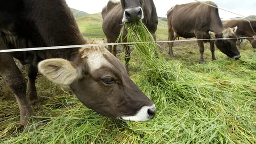
[[[126,23],[124,28],[130,42],[154,41],[142,22]],[[44,101],[37,114],[42,119],[37,124],[43,126],[26,134],[13,132],[15,125],[10,123],[0,134],[0,143],[256,142],[255,53],[242,53],[236,61],[187,66],[179,60],[166,61],[155,43],[133,47],[132,60],[140,61],[131,61],[135,69],[131,77],[154,101],[155,118],[147,122],[106,118],[65,93]]]

